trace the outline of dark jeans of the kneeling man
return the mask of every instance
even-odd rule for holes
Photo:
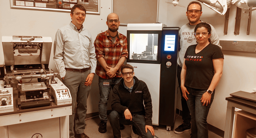
[[[151,132],[148,130],[146,133],[145,131],[145,123],[146,117],[143,115],[132,114],[133,119],[132,121],[125,119],[124,115],[118,113],[117,111],[112,111],[109,114],[110,125],[113,129],[114,138],[120,138],[120,124],[123,125],[133,125],[133,130],[135,134],[138,134],[142,138],[153,138]]]

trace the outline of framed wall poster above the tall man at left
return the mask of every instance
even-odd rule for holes
[[[11,8],[53,10],[70,12],[76,4],[86,9],[86,14],[100,14],[100,0],[10,0]]]

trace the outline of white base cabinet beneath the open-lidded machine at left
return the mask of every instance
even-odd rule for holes
[[[66,106],[0,116],[0,136],[1,138],[69,138],[71,110],[72,106]]]

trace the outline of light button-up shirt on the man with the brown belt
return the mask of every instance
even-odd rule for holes
[[[65,67],[72,69],[91,67],[90,73],[95,73],[97,59],[91,33],[83,26],[78,31],[72,22],[58,29],[55,35],[53,59],[61,78],[66,75]]]

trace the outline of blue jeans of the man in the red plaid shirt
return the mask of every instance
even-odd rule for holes
[[[100,88],[100,101],[99,101],[99,117],[103,122],[107,122],[107,110],[108,110],[108,98],[114,86],[120,82],[122,78],[114,78],[114,79],[103,79],[99,77],[99,88]],[[103,86],[103,82],[109,82],[109,86]]]

